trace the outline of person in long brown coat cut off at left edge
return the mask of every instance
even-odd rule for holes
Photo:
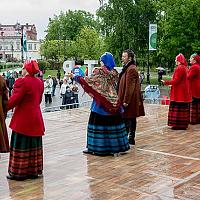
[[[6,128],[6,106],[8,102],[8,89],[5,79],[0,76],[0,153],[9,152],[8,133]]]

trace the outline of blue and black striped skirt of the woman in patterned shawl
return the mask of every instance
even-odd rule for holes
[[[121,115],[105,116],[91,112],[87,130],[88,151],[109,155],[129,150],[128,134]]]

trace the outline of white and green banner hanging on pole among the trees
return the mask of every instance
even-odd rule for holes
[[[149,50],[156,50],[157,24],[149,24]]]

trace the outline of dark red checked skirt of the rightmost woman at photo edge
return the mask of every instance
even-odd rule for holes
[[[190,104],[190,123],[200,124],[200,99],[192,98],[192,103]]]

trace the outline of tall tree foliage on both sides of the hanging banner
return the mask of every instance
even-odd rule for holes
[[[126,48],[147,61],[149,22],[158,24],[154,65],[171,66],[178,53],[200,50],[199,0],[108,0],[97,11],[106,47],[118,59]]]

